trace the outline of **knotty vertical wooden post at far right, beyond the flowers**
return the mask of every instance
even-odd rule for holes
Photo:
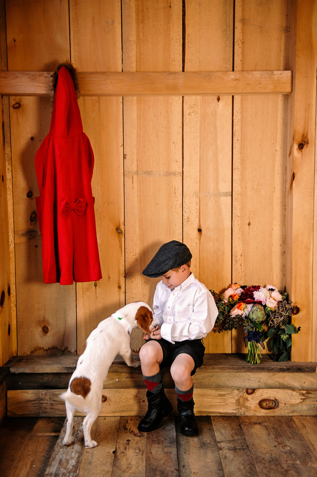
[[[292,337],[292,361],[312,361],[317,359],[316,316],[312,333],[317,1],[298,0],[297,12],[296,2],[291,5],[297,34],[289,55],[295,88],[288,108],[286,288],[299,307],[294,324],[302,327]]]

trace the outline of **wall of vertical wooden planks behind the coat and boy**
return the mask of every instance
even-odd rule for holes
[[[302,8],[305,2],[298,2]],[[302,18],[316,6],[315,0],[308,3]],[[7,0],[5,10],[9,71],[53,71],[64,60],[82,72],[295,70],[288,63],[290,34],[290,58],[296,58],[295,0]],[[301,46],[312,56],[315,40],[312,34]],[[307,83],[305,101],[315,108],[316,84],[314,102],[311,77]],[[49,131],[50,99],[10,97],[18,353],[76,353],[97,323],[124,302],[152,303],[158,280],[143,277],[142,270],[160,245],[177,239],[191,249],[194,275],[208,288],[222,292],[231,280],[289,286],[308,317],[295,341],[306,351],[294,356],[311,361],[311,345],[307,351],[303,341],[311,343],[312,336],[311,298],[304,298],[311,287],[312,246],[305,245],[305,286],[287,281],[285,267],[286,240],[294,233],[289,225],[286,231],[286,210],[293,210],[289,199],[286,209],[286,166],[287,174],[293,166],[287,162],[288,103],[286,95],[80,98],[95,154],[92,190],[103,278],[61,286],[42,282],[34,215],[34,156]],[[313,139],[309,151],[311,144]],[[307,156],[311,177],[313,156]],[[304,175],[302,180],[306,184]],[[298,186],[297,197],[297,204],[310,201],[309,223],[311,181],[309,194],[301,195]],[[305,234],[309,227],[298,225],[300,210],[292,224]],[[299,245],[300,238],[292,257]],[[133,332],[133,349],[141,345],[141,332]],[[244,351],[236,332],[232,339],[212,332],[205,346],[210,353]]]

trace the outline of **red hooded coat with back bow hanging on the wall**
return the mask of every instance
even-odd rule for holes
[[[50,133],[35,156],[44,283],[71,285],[73,280],[102,278],[91,187],[93,164],[72,77],[62,67]]]

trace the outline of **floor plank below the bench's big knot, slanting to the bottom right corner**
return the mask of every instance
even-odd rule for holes
[[[281,449],[281,456],[296,477],[317,477],[317,459],[291,416],[268,416],[266,421]],[[314,432],[316,433],[316,427]]]

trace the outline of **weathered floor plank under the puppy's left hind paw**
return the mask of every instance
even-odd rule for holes
[[[82,440],[82,421],[82,417],[74,417],[73,444],[63,446],[62,440],[65,436],[67,423],[67,419],[65,419],[44,477],[77,477],[85,448]]]

